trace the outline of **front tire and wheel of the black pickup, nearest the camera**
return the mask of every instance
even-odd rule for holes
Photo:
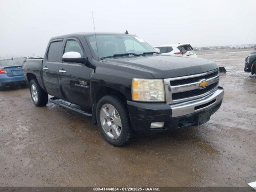
[[[96,116],[100,132],[107,142],[122,146],[132,140],[134,130],[130,126],[128,110],[118,97],[102,97],[96,108]]]

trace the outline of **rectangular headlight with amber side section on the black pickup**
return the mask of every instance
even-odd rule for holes
[[[132,100],[145,102],[164,102],[164,82],[162,79],[132,80]]]

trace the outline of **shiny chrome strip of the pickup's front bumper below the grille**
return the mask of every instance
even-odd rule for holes
[[[209,108],[210,106],[219,104],[222,101],[223,96],[224,90],[221,87],[218,87],[217,90],[202,98],[181,102],[178,104],[170,104],[172,109],[172,117],[192,114],[194,112]]]

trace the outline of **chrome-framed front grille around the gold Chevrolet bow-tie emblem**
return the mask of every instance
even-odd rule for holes
[[[166,102],[178,103],[206,96],[218,88],[219,79],[218,68],[201,74],[164,79]],[[208,82],[204,88],[200,87],[203,81]]]

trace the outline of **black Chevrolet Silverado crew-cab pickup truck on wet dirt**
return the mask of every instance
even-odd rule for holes
[[[218,66],[161,55],[138,36],[76,33],[50,39],[44,59],[25,60],[36,106],[50,102],[92,116],[115,146],[139,131],[199,126],[220,108]]]

